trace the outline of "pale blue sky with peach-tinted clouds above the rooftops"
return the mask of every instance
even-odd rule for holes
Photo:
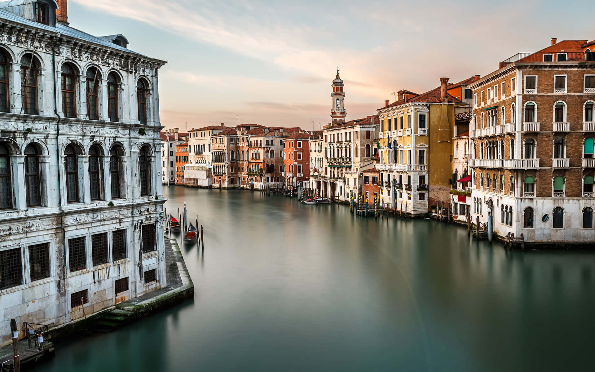
[[[168,61],[159,70],[167,128],[319,129],[330,121],[337,65],[352,120],[375,114],[398,90],[484,76],[518,52],[550,45],[550,37],[595,39],[595,23],[576,21],[592,2],[559,4],[70,0],[68,20],[96,36],[122,33],[131,50]]]

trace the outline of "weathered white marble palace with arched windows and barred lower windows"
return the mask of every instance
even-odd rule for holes
[[[122,35],[68,27],[58,3],[0,2],[4,330],[11,318],[68,323],[165,286],[165,61]]]

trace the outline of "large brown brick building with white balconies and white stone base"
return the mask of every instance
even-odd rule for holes
[[[472,218],[530,243],[593,242],[595,42],[519,53],[472,83]]]

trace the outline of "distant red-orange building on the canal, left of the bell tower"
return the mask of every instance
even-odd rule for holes
[[[312,135],[302,132],[283,140],[283,184],[308,188],[310,182],[310,146]]]

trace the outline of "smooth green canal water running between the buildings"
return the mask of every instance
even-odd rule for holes
[[[560,371],[593,365],[595,255],[506,252],[430,220],[165,187],[195,299],[56,345],[35,371]],[[179,236],[178,236],[179,237]],[[591,367],[592,368],[592,367]]]

